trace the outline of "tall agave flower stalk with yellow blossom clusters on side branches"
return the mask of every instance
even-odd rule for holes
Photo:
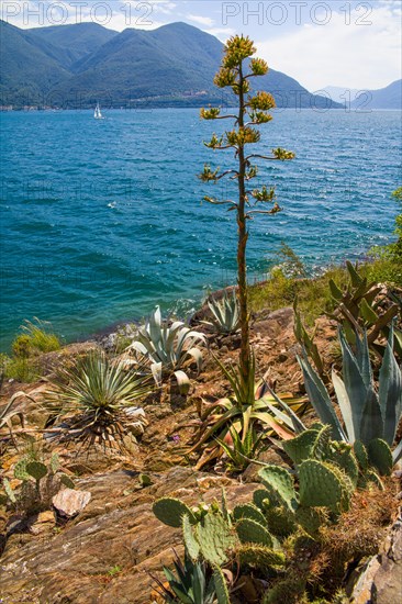
[[[239,323],[242,329],[241,347],[241,373],[244,383],[248,383],[248,374],[252,368],[249,345],[249,311],[247,302],[247,262],[246,247],[248,239],[247,223],[256,214],[276,214],[280,206],[276,202],[275,189],[265,184],[260,189],[250,189],[249,181],[258,175],[255,159],[288,160],[294,157],[292,152],[282,148],[272,149],[271,155],[265,153],[247,153],[247,146],[260,141],[259,131],[254,127],[272,120],[270,110],[276,107],[275,99],[268,92],[250,94],[250,81],[255,77],[265,76],[268,65],[259,58],[250,58],[256,52],[252,40],[247,36],[236,35],[231,37],[225,45],[224,56],[214,83],[219,88],[228,88],[238,100],[237,113],[222,113],[219,108],[202,109],[203,120],[234,120],[234,127],[223,135],[213,134],[206,147],[216,149],[233,149],[236,166],[220,172],[220,169],[211,169],[209,164],[200,175],[203,182],[217,182],[224,177],[237,183],[238,197],[232,199],[216,199],[209,195],[204,200],[216,204],[226,205],[228,211],[234,211],[237,223],[237,283],[239,300]],[[268,206],[268,208],[267,208]]]

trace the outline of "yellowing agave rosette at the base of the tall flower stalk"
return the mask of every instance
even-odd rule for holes
[[[201,416],[202,423],[199,426],[197,441],[191,451],[200,449],[211,438],[224,440],[232,428],[237,432],[241,441],[245,443],[249,429],[253,429],[255,424],[272,429],[280,436],[289,437],[289,434],[291,434],[289,429],[283,427],[271,413],[271,407],[278,404],[277,395],[270,391],[265,380],[257,383],[255,381],[256,363],[254,355],[252,356],[247,381],[243,378],[238,366],[226,368],[217,359],[215,360],[228,380],[233,395],[220,399],[215,403],[205,403],[206,409]],[[294,414],[302,415],[308,406],[305,398],[294,398],[290,393],[282,393],[280,400],[287,401]],[[202,467],[208,461],[219,457],[221,452],[221,447],[213,445],[212,449],[205,451],[198,467]]]

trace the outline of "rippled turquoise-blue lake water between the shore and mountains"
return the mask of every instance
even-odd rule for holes
[[[202,141],[225,122],[197,110],[2,113],[1,342],[24,318],[52,321],[67,339],[139,317],[156,303],[179,313],[205,288],[234,280],[234,213],[208,203],[226,184],[196,178],[231,154]],[[284,211],[250,223],[250,279],[264,278],[280,242],[310,266],[358,257],[391,237],[401,113],[277,112],[260,150]]]

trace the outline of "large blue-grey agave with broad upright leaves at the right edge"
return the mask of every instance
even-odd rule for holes
[[[332,427],[332,436],[336,440],[345,441],[371,451],[372,459],[386,455],[388,466],[392,467],[402,456],[402,440],[397,444],[392,458],[390,448],[397,436],[399,422],[402,417],[402,374],[393,355],[393,325],[386,346],[379,374],[379,388],[376,391],[369,356],[367,334],[360,338],[355,334],[356,355],[346,340],[342,328],[338,331],[343,355],[343,379],[333,371],[332,380],[343,418],[338,420],[330,394],[311,366],[306,354],[299,358],[303,371],[305,389],[320,420]],[[278,405],[287,413],[272,409],[277,418],[282,420],[297,434],[306,428],[288,405],[277,399]],[[381,449],[381,454],[379,454]],[[381,462],[383,467],[383,463]],[[387,473],[387,472],[384,472]]]

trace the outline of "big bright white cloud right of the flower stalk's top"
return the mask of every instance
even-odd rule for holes
[[[294,77],[309,90],[325,85],[382,88],[401,77],[401,4],[373,8],[359,25],[361,13],[333,12],[325,25],[308,24],[298,31],[256,41],[258,53],[273,69]]]

